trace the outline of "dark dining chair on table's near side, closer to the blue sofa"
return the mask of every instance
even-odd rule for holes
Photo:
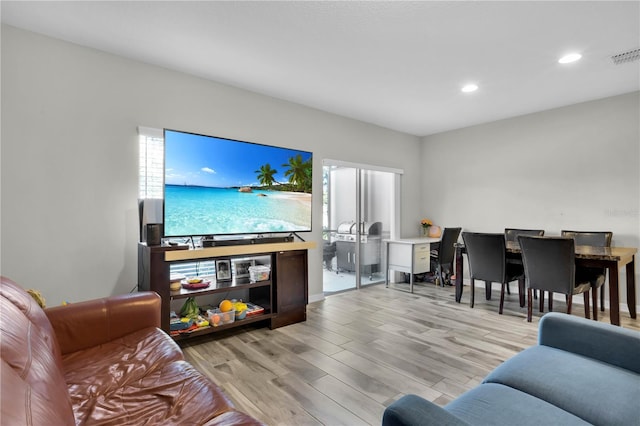
[[[562,293],[567,300],[567,313],[571,314],[574,294],[584,295],[584,316],[589,318],[589,291],[591,283],[576,274],[575,243],[568,237],[518,237],[522,250],[527,286],[527,321],[533,311],[532,290],[540,290],[540,312],[544,308],[544,292],[549,292],[549,310],[553,293]],[[597,301],[597,299],[596,299]]]

